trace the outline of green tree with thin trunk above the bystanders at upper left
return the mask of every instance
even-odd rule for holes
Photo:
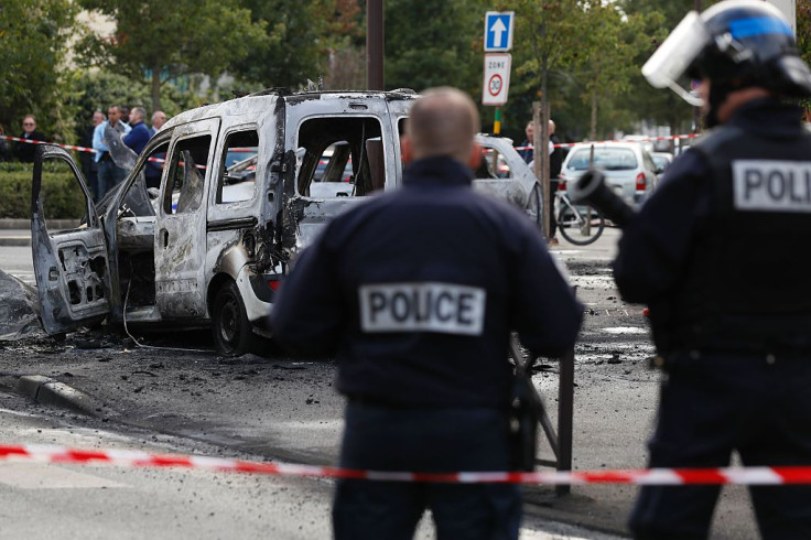
[[[87,57],[115,65],[133,79],[151,73],[152,108],[161,108],[161,86],[193,73],[218,77],[231,63],[267,43],[264,25],[251,22],[238,0],[79,0],[82,7],[116,20],[109,39],[84,42]]]

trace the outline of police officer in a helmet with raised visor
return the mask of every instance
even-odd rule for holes
[[[614,272],[646,303],[663,367],[651,467],[811,465],[811,96],[782,14],[759,0],[690,13],[642,68],[700,82],[710,127],[631,219]],[[706,538],[717,486],[641,489],[636,538]],[[753,486],[764,538],[811,538],[811,486]]]

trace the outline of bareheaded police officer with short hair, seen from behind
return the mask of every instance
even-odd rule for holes
[[[333,219],[302,252],[271,315],[274,337],[336,355],[348,398],[340,466],[507,471],[510,331],[536,354],[574,343],[582,306],[527,216],[474,193],[478,114],[426,90],[411,109],[403,186]],[[518,486],[339,480],[337,539],[517,539]]]

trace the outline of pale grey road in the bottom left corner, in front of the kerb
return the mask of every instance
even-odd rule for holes
[[[109,428],[0,392],[2,441],[223,454],[180,438]],[[331,490],[328,483],[296,478],[0,462],[0,538],[328,538]]]

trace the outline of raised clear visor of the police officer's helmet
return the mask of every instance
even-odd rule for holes
[[[710,41],[701,17],[691,11],[648,58],[642,66],[642,75],[655,88],[670,88],[690,105],[701,105],[701,99],[682,88],[678,80]]]

